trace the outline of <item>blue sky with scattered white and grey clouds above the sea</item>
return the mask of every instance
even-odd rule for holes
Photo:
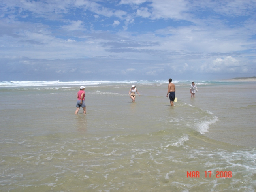
[[[0,0],[0,81],[256,76],[256,0]]]

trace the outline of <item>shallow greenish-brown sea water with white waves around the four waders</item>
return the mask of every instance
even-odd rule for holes
[[[0,191],[254,192],[256,82],[173,83],[0,82]]]

